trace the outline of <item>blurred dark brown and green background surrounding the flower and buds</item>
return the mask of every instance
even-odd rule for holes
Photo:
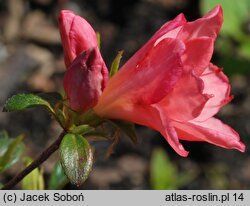
[[[93,171],[79,189],[249,189],[249,0],[1,0],[0,109],[8,97],[19,92],[62,91],[65,66],[57,25],[61,9],[74,10],[101,34],[101,52],[109,67],[119,50],[125,51],[123,64],[177,14],[182,12],[192,21],[217,4],[223,6],[225,22],[212,62],[229,75],[235,96],[217,116],[239,132],[247,145],[246,152],[183,142],[190,154],[182,158],[158,132],[137,126],[139,144],[122,136],[109,158],[103,155],[107,143],[95,145]],[[0,131],[1,138],[24,134],[22,157],[35,158],[56,138],[60,127],[45,110],[36,108],[1,112]],[[36,171],[44,178],[43,188],[77,189],[55,166],[57,160],[55,153]],[[22,158],[15,162],[3,169],[0,159],[0,182],[7,182],[24,167]],[[27,164],[27,158],[24,162]],[[16,188],[29,187],[26,182],[26,187],[23,183]]]

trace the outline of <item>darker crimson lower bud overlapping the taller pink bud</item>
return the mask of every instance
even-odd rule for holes
[[[97,47],[78,55],[65,72],[63,83],[74,111],[84,112],[97,104],[106,85],[106,66]]]

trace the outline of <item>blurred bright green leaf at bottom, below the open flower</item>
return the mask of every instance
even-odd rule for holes
[[[155,149],[150,162],[150,182],[155,190],[178,189],[177,168],[163,149]]]

